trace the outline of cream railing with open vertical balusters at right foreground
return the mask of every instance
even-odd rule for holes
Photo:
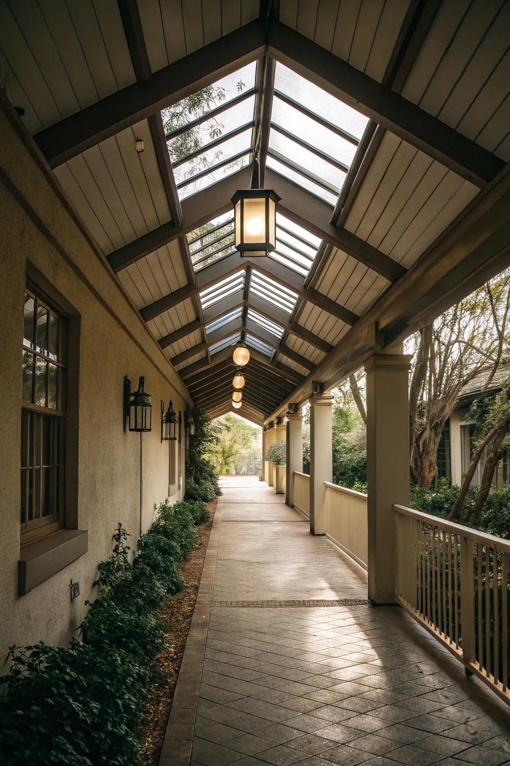
[[[436,516],[397,513],[398,603],[505,702],[510,541]]]

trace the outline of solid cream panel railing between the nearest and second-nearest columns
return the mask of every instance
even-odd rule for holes
[[[368,523],[366,495],[345,486],[324,482],[326,535],[366,569]]]

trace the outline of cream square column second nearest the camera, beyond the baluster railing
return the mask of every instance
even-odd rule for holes
[[[331,394],[310,397],[310,532],[326,532],[325,481],[333,481],[333,419]]]

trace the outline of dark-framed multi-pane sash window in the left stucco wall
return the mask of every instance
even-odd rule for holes
[[[21,408],[21,542],[63,520],[66,429],[64,317],[36,293],[24,294]]]

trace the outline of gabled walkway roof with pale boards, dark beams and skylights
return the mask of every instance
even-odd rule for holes
[[[483,0],[0,0],[0,84],[193,400],[230,408],[242,339],[261,422],[361,364],[376,326],[391,342],[495,273],[475,227],[505,225],[504,183],[462,257],[443,238],[510,160],[509,28]],[[250,260],[230,198],[255,156],[282,199]]]

